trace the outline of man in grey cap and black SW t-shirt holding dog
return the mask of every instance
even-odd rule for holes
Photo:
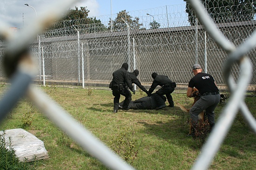
[[[214,110],[218,103],[220,102],[219,89],[214,78],[207,74],[202,73],[202,68],[199,64],[195,64],[192,68],[194,77],[189,81],[189,87],[187,90],[188,97],[194,97],[192,94],[193,88],[197,88],[201,97],[195,104],[190,108],[189,115],[192,119],[192,126],[198,121],[198,114],[205,110],[210,127],[215,125],[214,121]],[[193,132],[194,130],[194,132]],[[192,136],[195,136],[195,129],[192,129]]]

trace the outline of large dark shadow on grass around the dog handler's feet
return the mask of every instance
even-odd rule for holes
[[[223,104],[216,107],[216,112],[218,112],[216,114],[216,123],[218,122],[218,118],[223,107]],[[157,114],[158,112],[159,111],[153,111],[152,113]],[[143,129],[143,133],[159,137],[177,145],[186,145],[192,149],[202,148],[199,139],[193,140],[191,137],[187,136],[189,132],[189,125],[181,123],[181,115],[183,112],[179,109],[179,107],[169,109],[165,108],[164,110],[161,110],[161,112],[161,114],[168,114],[169,120],[165,122],[150,122],[147,120],[139,121],[138,123],[145,127],[145,129]],[[241,158],[246,152],[256,151],[255,133],[253,133],[246,123],[245,126],[243,121],[245,120],[240,120],[239,117],[236,116],[236,120],[233,122],[232,127],[222,143],[222,149],[220,149],[220,151],[223,151],[223,153],[231,157]],[[231,149],[227,149],[227,147],[223,147],[223,145],[228,145]]]

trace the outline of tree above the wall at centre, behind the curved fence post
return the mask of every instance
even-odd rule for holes
[[[115,31],[124,31],[127,28],[127,24],[130,26],[130,29],[140,29],[140,27],[143,24],[139,24],[139,18],[135,17],[135,19],[132,19],[130,15],[126,12],[126,10],[123,10],[117,14],[117,17],[114,21],[112,21],[112,28]],[[111,27],[111,19],[109,19],[108,22],[108,29]]]

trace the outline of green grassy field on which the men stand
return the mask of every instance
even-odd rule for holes
[[[187,137],[189,125],[186,121],[189,116],[179,107],[112,113],[113,95],[109,90],[39,88],[136,170],[189,170],[200,153],[202,143]],[[0,94],[5,89],[6,85],[2,85]],[[137,91],[132,97],[135,100],[145,95]],[[184,106],[192,104],[192,99],[184,93],[173,93],[172,96],[175,102]],[[245,102],[256,117],[255,97],[247,97]],[[224,106],[221,103],[216,108],[216,122]],[[14,128],[23,128],[44,141],[49,158],[36,161],[31,165],[33,169],[108,170],[26,98],[0,124],[0,130]],[[256,134],[238,114],[209,169],[256,170],[255,160]]]

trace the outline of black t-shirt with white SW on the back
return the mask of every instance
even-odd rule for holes
[[[219,89],[214,83],[214,79],[207,73],[197,73],[190,81],[189,88],[197,88],[200,94],[205,92],[218,92]]]

